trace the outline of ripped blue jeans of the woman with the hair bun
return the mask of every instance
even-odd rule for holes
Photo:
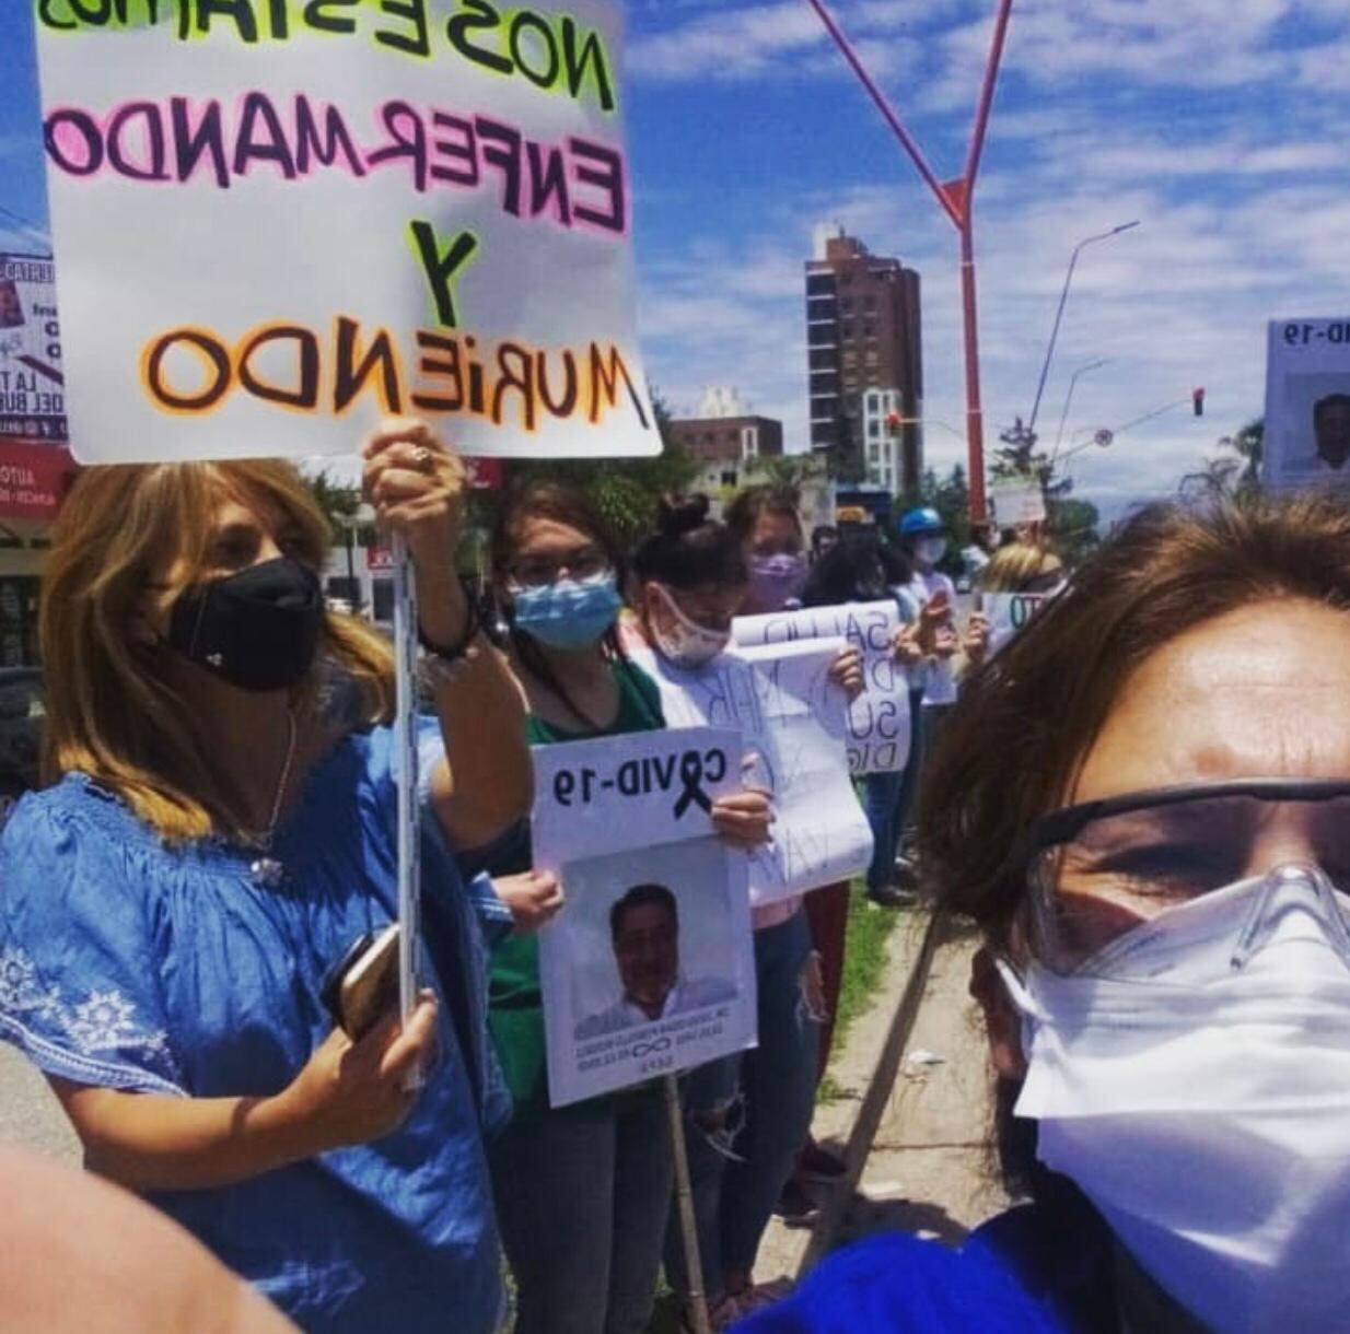
[[[796,1165],[815,1110],[815,1053],[819,1024],[806,1013],[802,968],[811,952],[806,913],[755,932],[759,985],[759,1047],[695,1070],[684,1089],[694,1213],[703,1285],[721,1298],[728,1275],[755,1268],[760,1238]],[[706,1133],[710,1120],[742,1113],[730,1144],[718,1152]],[[688,1291],[678,1209],[666,1241],[666,1273],[679,1294]]]

